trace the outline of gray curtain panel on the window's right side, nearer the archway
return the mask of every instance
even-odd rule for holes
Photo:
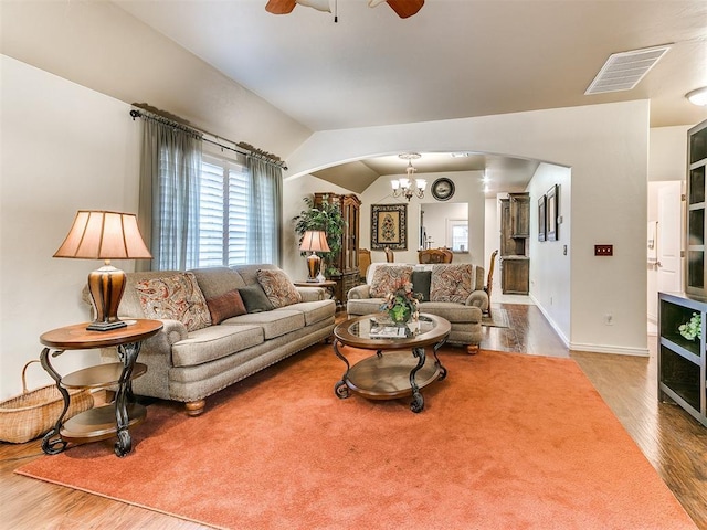
[[[251,173],[249,263],[282,266],[282,168],[254,156],[246,163]]]

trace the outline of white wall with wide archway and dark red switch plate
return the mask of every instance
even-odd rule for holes
[[[570,293],[569,346],[647,354],[648,114],[648,102],[636,100],[320,131],[288,157],[288,173],[409,150],[472,150],[571,168],[570,277],[557,285]],[[597,262],[599,243],[612,243],[614,256]],[[614,326],[604,325],[608,311]]]

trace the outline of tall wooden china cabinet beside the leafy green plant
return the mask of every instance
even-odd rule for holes
[[[335,202],[341,210],[344,216],[344,234],[341,236],[341,248],[338,255],[328,266],[339,269],[338,275],[331,275],[329,279],[336,282],[334,294],[337,301],[346,305],[348,292],[358,285],[358,245],[361,201],[355,194],[339,195],[337,193],[315,193],[314,203],[321,203],[325,195],[329,201]]]

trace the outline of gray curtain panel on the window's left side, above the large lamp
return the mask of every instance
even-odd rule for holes
[[[143,114],[138,219],[151,262],[141,271],[186,271],[199,255],[201,135],[165,118]]]

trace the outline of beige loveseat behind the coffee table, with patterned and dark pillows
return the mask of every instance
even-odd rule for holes
[[[482,341],[482,314],[488,308],[484,290],[484,267],[471,264],[395,264],[374,263],[367,283],[349,290],[349,316],[380,312],[383,296],[392,279],[408,278],[413,292],[423,293],[420,312],[445,318],[452,325],[447,343],[464,346],[469,353]]]

